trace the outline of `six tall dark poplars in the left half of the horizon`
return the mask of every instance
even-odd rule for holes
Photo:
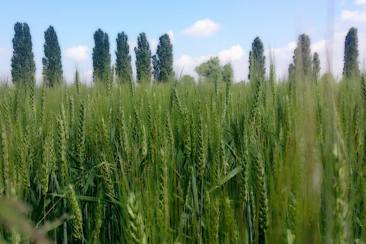
[[[14,26],[13,57],[11,60],[12,80],[16,84],[29,84],[34,79],[36,66],[32,51],[32,38],[29,26],[26,23],[17,22]],[[105,80],[111,68],[111,55],[109,53],[108,34],[98,29],[94,33],[95,47],[93,48],[93,78]],[[149,82],[151,75],[157,83],[166,82],[173,78],[173,46],[167,34],[159,39],[157,53],[151,56],[149,43],[145,33],[138,36],[135,47],[137,82]],[[117,50],[115,72],[120,82],[129,82],[132,79],[130,46],[127,35],[122,32],[117,35]],[[151,70],[153,62],[153,71]],[[43,81],[49,86],[63,82],[63,70],[61,51],[53,26],[49,26],[45,32]]]

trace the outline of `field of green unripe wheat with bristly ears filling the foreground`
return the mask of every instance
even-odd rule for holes
[[[0,195],[53,243],[366,240],[364,79],[112,81],[0,86]]]

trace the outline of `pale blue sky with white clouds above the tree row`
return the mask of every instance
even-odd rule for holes
[[[229,60],[235,80],[248,76],[248,55],[255,37],[265,53],[275,54],[277,76],[287,73],[297,37],[306,33],[312,53],[319,52],[321,72],[342,74],[344,40],[350,27],[358,28],[360,62],[366,49],[366,0],[355,1],[4,1],[0,8],[0,77],[11,78],[14,24],[26,22],[31,29],[36,77],[42,77],[44,32],[52,25],[62,51],[64,76],[72,81],[77,68],[85,80],[93,70],[93,34],[101,28],[109,36],[115,63],[117,33],[125,32],[132,65],[137,36],[145,32],[155,54],[159,37],[168,33],[173,43],[174,68],[197,77],[194,68],[219,55]],[[331,28],[330,28],[331,27]],[[332,29],[332,31],[330,31]],[[332,47],[332,48],[331,48]],[[267,58],[268,59],[268,58]]]

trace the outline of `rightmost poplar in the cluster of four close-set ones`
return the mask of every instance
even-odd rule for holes
[[[171,78],[173,74],[173,45],[170,43],[168,34],[164,34],[159,38],[159,45],[157,49],[157,55],[153,63],[157,65],[157,76],[155,79],[158,82],[166,82]],[[155,70],[155,66],[154,66]]]

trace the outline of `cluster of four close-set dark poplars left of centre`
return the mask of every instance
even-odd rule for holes
[[[93,48],[93,76],[94,79],[107,75],[110,70],[111,55],[109,53],[108,34],[101,29],[94,34],[95,47]],[[145,33],[140,33],[137,38],[136,53],[136,71],[137,82],[150,82],[151,75],[154,75],[154,81],[157,83],[166,82],[174,76],[173,72],[173,46],[168,34],[164,34],[159,39],[157,53],[151,56],[149,43]],[[130,46],[127,35],[122,32],[117,35],[117,50],[115,71],[117,78],[121,82],[132,79]],[[151,71],[151,60],[153,61],[153,70]]]

